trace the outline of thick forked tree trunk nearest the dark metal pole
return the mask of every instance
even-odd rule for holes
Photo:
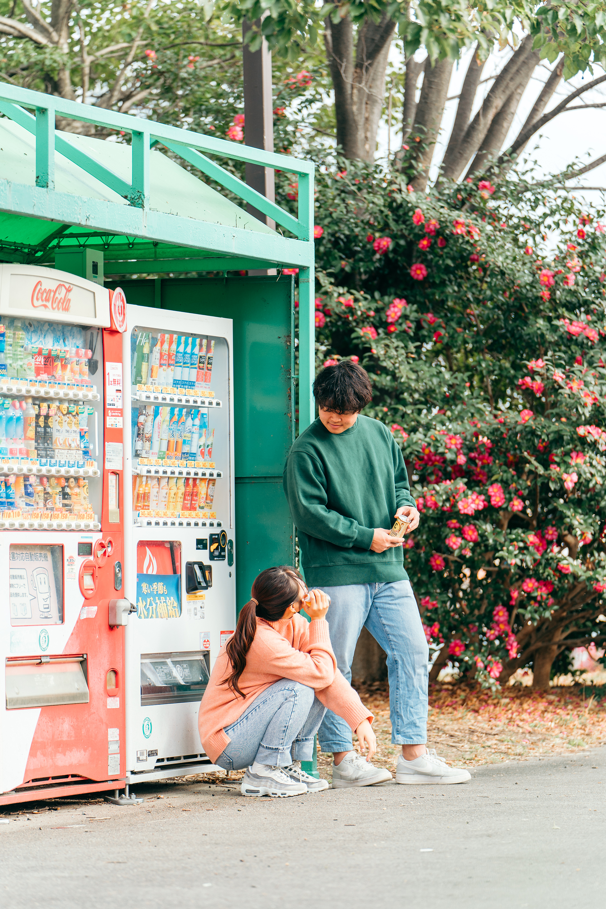
[[[354,58],[350,17],[337,25],[326,19],[324,45],[333,78],[337,145],[346,158],[374,161],[394,29],[388,15],[376,24],[367,19],[359,29]]]

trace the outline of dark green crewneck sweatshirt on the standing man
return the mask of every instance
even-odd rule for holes
[[[308,585],[408,580],[401,546],[384,553],[370,548],[376,527],[389,530],[397,509],[415,504],[402,452],[386,425],[359,416],[335,435],[315,420],[291,448],[283,486]]]

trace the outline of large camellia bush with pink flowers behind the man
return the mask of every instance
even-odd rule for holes
[[[520,177],[322,180],[318,367],[362,363],[402,446],[432,677],[546,687],[606,640],[606,219]]]

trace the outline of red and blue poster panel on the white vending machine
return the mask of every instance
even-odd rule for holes
[[[137,615],[175,619],[181,615],[181,544],[165,540],[137,543]]]

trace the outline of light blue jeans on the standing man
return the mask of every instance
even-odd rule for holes
[[[331,598],[326,620],[339,669],[351,683],[353,653],[365,626],[387,654],[392,743],[425,744],[429,647],[410,581],[322,589]],[[328,710],[318,740],[324,752],[351,751],[352,730]]]

